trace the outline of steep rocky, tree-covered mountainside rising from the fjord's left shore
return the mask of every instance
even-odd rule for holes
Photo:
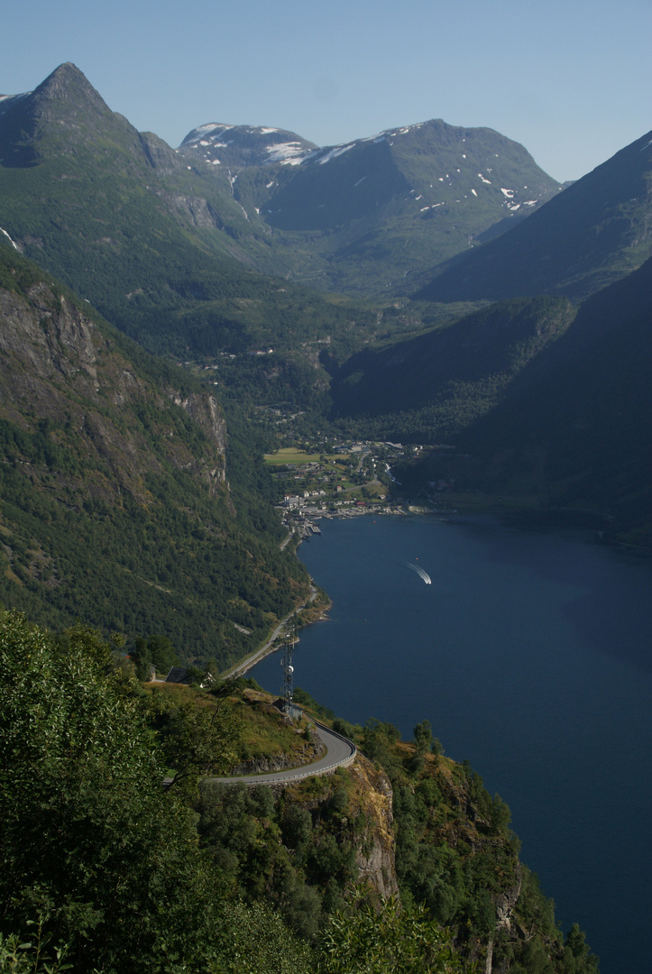
[[[0,244],[0,601],[226,665],[306,591],[255,436]]]

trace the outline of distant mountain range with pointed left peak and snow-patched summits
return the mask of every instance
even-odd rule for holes
[[[172,334],[207,276],[254,300],[256,272],[384,298],[558,189],[517,143],[441,121],[324,149],[214,124],[173,150],[74,64],[0,99],[3,229],[138,340]]]

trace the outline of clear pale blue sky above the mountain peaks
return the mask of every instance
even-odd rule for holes
[[[319,145],[431,118],[521,142],[559,181],[652,129],[652,0],[21,0],[0,94],[73,61],[139,131]]]

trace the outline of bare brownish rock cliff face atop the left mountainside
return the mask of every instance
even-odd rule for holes
[[[147,474],[166,462],[201,477],[211,490],[224,484],[226,425],[209,393],[153,387],[91,318],[45,281],[24,295],[0,289],[0,321],[0,418],[24,431],[46,423],[53,444],[101,463],[105,499],[118,503],[127,490],[145,503]],[[199,455],[176,429],[170,403],[204,432]],[[159,449],[152,449],[138,422],[143,409]],[[85,493],[82,480],[75,487]]]

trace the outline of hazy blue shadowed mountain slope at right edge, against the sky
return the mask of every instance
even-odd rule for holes
[[[582,300],[652,254],[652,131],[573,183],[509,234],[435,268],[432,301],[565,294]]]

